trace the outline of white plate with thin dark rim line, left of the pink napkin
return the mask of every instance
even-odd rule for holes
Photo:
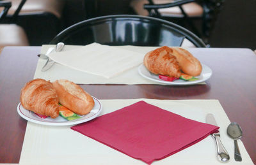
[[[33,111],[26,110],[23,108],[23,106],[19,103],[17,106],[17,111],[20,115],[20,117],[30,121],[34,122],[36,124],[42,124],[42,125],[47,125],[47,126],[70,126],[74,124],[80,124],[82,122],[88,122],[89,120],[92,120],[93,118],[99,116],[100,111],[102,110],[102,104],[98,99],[93,97],[94,100],[94,107],[90,113],[80,116],[81,118],[77,118],[76,120],[66,120],[65,118],[59,116],[57,118],[40,118],[38,115],[33,113]]]

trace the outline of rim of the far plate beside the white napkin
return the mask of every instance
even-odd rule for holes
[[[202,63],[201,63],[201,64],[202,64]],[[164,81],[164,80],[161,80],[161,79],[156,80],[156,79],[154,79],[154,78],[150,78],[150,77],[148,77],[147,75],[144,75],[144,74],[141,72],[141,68],[144,67],[145,69],[147,69],[147,68],[144,66],[144,64],[140,64],[140,66],[138,67],[138,72],[139,72],[139,74],[140,74],[141,76],[143,76],[143,77],[146,78],[147,80],[151,80],[151,81],[153,81],[153,82],[158,82],[158,83],[163,83],[164,85],[195,85],[195,84],[197,84],[197,83],[205,82],[206,80],[208,80],[208,79],[211,78],[211,76],[212,76],[212,69],[209,68],[209,66],[206,66],[205,64],[202,64],[202,66],[203,66],[203,68],[206,67],[207,69],[210,70],[210,75],[209,75],[209,77],[206,78],[206,79],[197,80],[197,81],[192,81],[192,82],[168,82],[168,81]],[[147,71],[148,71],[148,69],[147,69]],[[148,71],[148,73],[150,73],[150,71]],[[152,74],[153,74],[153,73],[152,73]]]

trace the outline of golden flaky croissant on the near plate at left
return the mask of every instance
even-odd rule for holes
[[[35,79],[24,85],[20,91],[20,103],[26,110],[40,115],[59,116],[58,96],[51,82]]]

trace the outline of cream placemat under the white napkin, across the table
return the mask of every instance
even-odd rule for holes
[[[48,48],[55,47],[55,45],[43,45],[41,49],[41,54],[45,54]],[[70,51],[77,48],[81,48],[83,46],[76,45],[65,45],[63,48],[64,51]],[[136,46],[115,46],[115,48],[122,48],[127,51],[138,52],[138,54],[147,54],[147,52],[154,50],[157,47],[136,47]],[[38,63],[36,66],[35,76],[34,78],[43,78],[45,80],[50,80],[51,82],[60,79],[67,79],[75,83],[79,84],[157,84],[157,85],[166,85],[161,82],[153,82],[143,78],[138,73],[138,66],[128,69],[117,76],[113,76],[111,78],[106,78],[99,75],[93,75],[90,73],[85,73],[83,71],[78,71],[76,69],[68,68],[67,66],[63,66],[61,64],[55,63],[52,68],[47,71],[41,71],[44,66],[45,59],[38,59]],[[141,59],[141,63],[143,60]],[[198,83],[198,84],[205,84]]]

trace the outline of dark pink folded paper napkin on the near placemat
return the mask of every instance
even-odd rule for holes
[[[219,127],[140,101],[71,129],[151,164],[203,140]]]

